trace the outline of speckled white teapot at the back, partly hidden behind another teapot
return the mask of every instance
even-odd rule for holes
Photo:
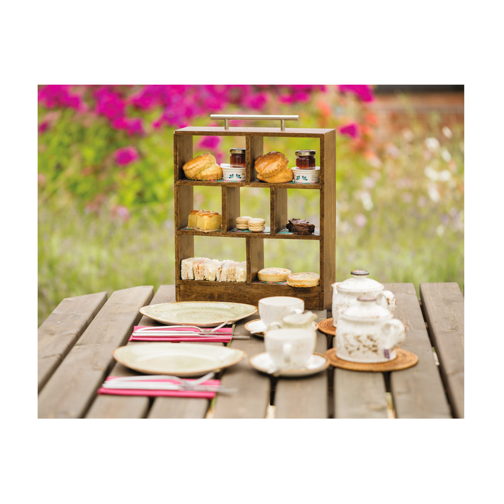
[[[377,303],[388,308],[391,313],[396,309],[396,298],[390,290],[384,290],[383,284],[366,278],[369,272],[366,270],[353,270],[352,278],[343,282],[336,282],[333,287],[333,326],[336,327],[343,310],[357,304],[359,296],[379,296]]]

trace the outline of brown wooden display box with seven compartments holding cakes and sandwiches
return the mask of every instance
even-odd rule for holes
[[[187,180],[182,165],[192,159],[193,136],[233,136],[245,137],[246,177],[242,182],[223,180]],[[318,138],[320,148],[320,183],[267,183],[257,179],[254,163],[263,152],[264,137]],[[174,192],[175,192],[175,293],[177,301],[239,301],[257,305],[259,299],[268,296],[294,296],[305,302],[306,308],[325,309],[331,304],[332,288],[335,282],[335,232],[336,232],[336,131],[302,128],[196,128],[187,127],[174,132]],[[301,144],[302,145],[302,144]],[[290,166],[295,164],[290,163]],[[188,215],[194,209],[193,188],[195,185],[220,186],[222,191],[222,229],[204,233],[187,230]],[[270,190],[270,233],[237,233],[235,219],[240,216],[240,187],[267,187]],[[319,191],[320,193],[320,233],[313,235],[279,234],[285,229],[287,216],[287,190]],[[211,254],[197,250],[194,236],[223,236],[243,240],[246,250],[246,282],[212,282],[182,280],[180,266],[182,259],[209,257]],[[257,272],[264,265],[264,240],[317,240],[320,244],[320,285],[296,288],[289,285],[261,283]],[[293,243],[294,245],[295,243]],[[293,247],[293,250],[295,248]],[[219,258],[223,259],[223,258]],[[288,264],[281,265],[289,268]],[[306,271],[306,270],[304,270]],[[293,271],[295,273],[295,271]]]

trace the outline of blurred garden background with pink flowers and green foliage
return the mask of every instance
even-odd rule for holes
[[[458,282],[463,289],[460,86],[40,85],[39,325],[65,297],[174,283],[173,131],[222,125],[212,113],[297,114],[287,128],[338,130],[336,280],[366,269],[381,282],[417,289]],[[195,155],[210,151],[218,162],[228,162],[231,147],[244,140],[195,137]],[[265,138],[265,152],[283,152],[291,166],[300,148],[318,150],[298,139]],[[241,213],[268,220],[269,195],[245,189]],[[296,214],[289,217],[318,222],[314,193],[289,191]],[[214,187],[195,187],[195,208],[220,211],[220,199]],[[211,238],[204,246],[212,258],[242,261],[240,241]],[[300,245],[306,253],[296,240],[295,255],[290,240],[266,241],[276,248],[265,244],[265,266],[318,271],[311,240]]]

